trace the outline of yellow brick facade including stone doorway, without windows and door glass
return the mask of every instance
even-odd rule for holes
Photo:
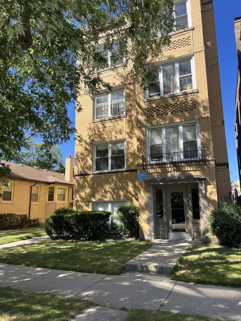
[[[83,112],[76,113],[76,128],[83,142],[76,142],[75,146],[74,207],[92,210],[98,202],[114,204],[115,201],[137,204],[142,239],[202,239],[207,231],[209,209],[218,206],[219,198],[228,199],[231,192],[213,4],[204,0],[190,0],[187,4],[192,25],[173,33],[170,47],[162,48],[160,55],[149,62],[166,64],[183,57],[192,59],[193,89],[148,98],[138,82],[118,67],[115,72],[104,70],[102,76],[114,89],[125,89],[123,115],[94,119],[94,102],[87,94],[79,97]],[[202,150],[205,147],[206,165],[187,163],[175,169],[170,166],[143,169],[142,153],[147,154],[150,129],[192,122],[200,128],[198,134]],[[95,146],[112,142],[125,142],[125,169],[96,171]],[[138,174],[146,174],[147,178],[138,179]],[[165,208],[162,218],[156,213],[159,189],[163,192]],[[188,205],[192,203],[192,189],[198,191],[200,219],[192,217],[192,206]],[[168,203],[171,190],[182,190],[185,195],[186,230],[182,235],[171,231]]]

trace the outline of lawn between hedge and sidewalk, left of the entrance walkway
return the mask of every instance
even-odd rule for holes
[[[121,274],[124,264],[151,247],[145,241],[51,241],[0,251],[0,263],[84,273]]]

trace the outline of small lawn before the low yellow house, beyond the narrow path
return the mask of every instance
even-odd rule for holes
[[[46,235],[44,227],[28,227],[26,229],[0,230],[0,245],[36,238]]]

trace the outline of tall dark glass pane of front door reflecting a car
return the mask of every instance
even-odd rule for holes
[[[172,231],[186,232],[183,192],[171,192]]]

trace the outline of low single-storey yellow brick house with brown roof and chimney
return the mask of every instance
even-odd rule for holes
[[[73,158],[65,174],[4,161],[10,166],[8,187],[2,188],[0,213],[16,213],[45,221],[55,209],[73,207]]]

